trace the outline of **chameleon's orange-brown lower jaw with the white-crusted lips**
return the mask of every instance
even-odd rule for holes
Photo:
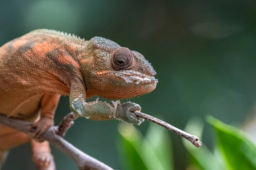
[[[109,77],[109,81],[106,82],[108,89],[106,90],[105,86],[101,85],[102,83],[95,83],[98,86],[88,88],[87,92],[89,94],[89,91],[93,89],[93,95],[107,99],[130,99],[148,94],[156,88],[158,82],[154,76],[146,76],[141,72],[131,70],[98,71],[95,74],[99,76],[98,81],[105,81],[102,77]]]

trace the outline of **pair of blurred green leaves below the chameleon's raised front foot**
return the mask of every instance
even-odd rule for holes
[[[151,123],[146,137],[133,125],[119,126],[119,153],[123,169],[172,170],[171,140],[168,130]]]

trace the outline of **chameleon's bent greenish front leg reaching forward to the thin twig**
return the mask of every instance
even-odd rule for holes
[[[138,118],[132,111],[140,111],[140,105],[132,102],[120,104],[117,102],[85,102],[86,91],[81,81],[71,84],[70,89],[70,109],[77,116],[91,120],[118,119],[130,124],[140,125],[144,119]]]

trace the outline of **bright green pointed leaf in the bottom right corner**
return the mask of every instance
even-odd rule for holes
[[[207,122],[215,129],[218,147],[231,170],[255,170],[256,147],[242,130],[212,116]]]

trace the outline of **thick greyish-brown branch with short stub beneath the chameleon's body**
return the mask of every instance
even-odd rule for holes
[[[49,141],[53,146],[58,148],[58,150],[61,150],[63,153],[73,159],[80,170],[113,170],[106,164],[83,153],[81,150],[61,137],[64,136],[71,125],[73,125],[73,120],[75,119],[77,119],[77,116],[75,116],[74,113],[69,113],[67,116],[65,116],[64,120],[59,126],[50,127],[41,136],[41,139]],[[0,114],[0,123],[26,133],[29,136],[33,135],[33,132],[30,131],[31,125],[33,124],[32,122],[25,122],[15,118],[7,118],[6,116]]]

